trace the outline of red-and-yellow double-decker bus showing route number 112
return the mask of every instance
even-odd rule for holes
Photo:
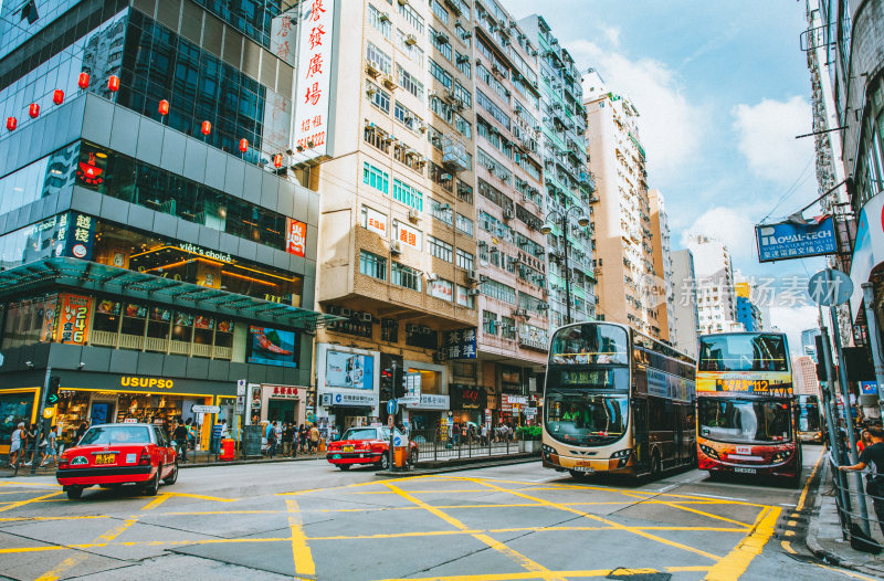
[[[699,469],[799,482],[801,442],[786,335],[701,336],[696,381]]]

